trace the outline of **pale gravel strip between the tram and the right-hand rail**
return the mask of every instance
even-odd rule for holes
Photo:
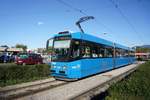
[[[109,80],[112,80],[116,76],[136,68],[138,65],[140,65],[140,63],[121,67],[50,90],[38,92],[33,95],[31,94],[22,98],[18,98],[17,100],[70,100]]]

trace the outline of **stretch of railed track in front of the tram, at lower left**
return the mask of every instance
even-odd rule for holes
[[[16,99],[23,96],[35,94],[41,91],[45,91],[48,89],[52,89],[58,86],[62,86],[68,84],[65,81],[58,81],[58,80],[48,80],[43,82],[37,82],[33,84],[23,85],[23,86],[14,86],[11,88],[6,87],[0,89],[0,100],[10,100]]]

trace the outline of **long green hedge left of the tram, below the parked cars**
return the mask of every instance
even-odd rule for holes
[[[41,65],[0,65],[0,86],[32,81],[49,77],[49,66]]]

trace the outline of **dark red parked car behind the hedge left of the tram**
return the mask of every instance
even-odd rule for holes
[[[20,53],[16,57],[16,64],[42,64],[43,59],[40,54],[35,53]]]

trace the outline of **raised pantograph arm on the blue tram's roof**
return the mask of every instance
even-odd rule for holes
[[[81,31],[82,33],[84,33],[84,31],[83,31],[83,29],[82,29],[80,23],[85,22],[85,21],[90,20],[90,19],[94,19],[94,17],[93,17],[93,16],[81,17],[81,18],[76,22],[76,25],[79,27],[79,29],[80,29],[80,31]]]

